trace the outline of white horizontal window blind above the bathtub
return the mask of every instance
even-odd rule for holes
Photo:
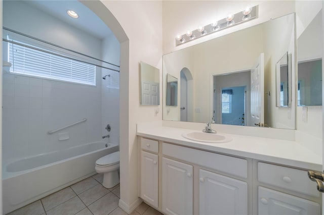
[[[44,51],[10,43],[9,62],[12,73],[96,86],[96,66]]]

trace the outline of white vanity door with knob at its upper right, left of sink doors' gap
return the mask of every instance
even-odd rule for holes
[[[192,166],[163,157],[162,208],[166,214],[192,214]]]

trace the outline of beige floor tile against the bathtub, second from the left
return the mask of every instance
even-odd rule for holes
[[[53,193],[42,199],[44,208],[46,211],[56,207],[57,205],[69,200],[70,198],[76,196],[70,187]]]

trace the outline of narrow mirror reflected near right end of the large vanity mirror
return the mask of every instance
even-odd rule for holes
[[[288,60],[288,52],[285,53],[284,56],[276,63],[275,65],[275,77],[276,77],[276,106],[277,107],[288,107],[289,102],[289,88],[291,87],[289,81],[289,60]]]

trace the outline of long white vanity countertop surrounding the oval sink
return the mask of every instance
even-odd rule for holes
[[[137,135],[197,149],[321,171],[322,157],[319,155],[321,153],[316,153],[316,151],[306,148],[296,141],[224,134],[230,136],[232,141],[226,143],[204,143],[182,137],[182,133],[190,131],[197,130],[158,126],[140,129],[137,131]]]

